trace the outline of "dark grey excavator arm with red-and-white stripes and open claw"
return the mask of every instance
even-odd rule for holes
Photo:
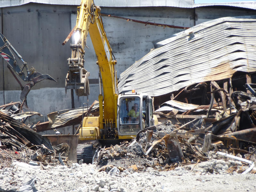
[[[23,103],[24,101],[26,101],[28,92],[36,83],[44,79],[49,79],[57,82],[51,76],[47,74],[44,75],[37,72],[36,69],[33,67],[28,69],[27,63],[22,59],[20,54],[14,49],[14,47],[10,44],[10,42],[6,39],[6,37],[1,33],[0,33],[0,37],[1,37],[0,38],[0,54],[4,58],[4,60],[8,63],[7,67],[10,69],[12,75],[20,84],[20,87],[21,87],[20,99],[23,101]],[[17,78],[17,75],[20,76],[20,78],[23,81],[28,82],[28,84],[23,86],[20,83],[19,79]]]

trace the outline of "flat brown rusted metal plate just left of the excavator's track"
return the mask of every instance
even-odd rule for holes
[[[77,163],[76,148],[78,145],[78,135],[43,135],[49,139],[52,145],[59,145],[60,143],[67,143],[70,147],[68,160]]]

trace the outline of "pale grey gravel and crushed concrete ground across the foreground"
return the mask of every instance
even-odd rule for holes
[[[225,172],[228,166],[236,163],[239,164],[232,160],[212,159],[195,167],[177,167],[172,171],[146,168],[134,172],[129,168],[115,172],[114,167],[114,172],[107,173],[99,172],[100,167],[92,164],[48,165],[46,170],[41,170],[40,166],[13,162],[11,167],[0,170],[0,188],[22,192],[256,191],[256,174]],[[213,168],[212,173],[207,172],[209,168]],[[31,182],[34,187],[25,184],[31,179],[35,179]]]

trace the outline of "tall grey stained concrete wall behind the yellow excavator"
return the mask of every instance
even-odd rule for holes
[[[101,12],[130,19],[192,27],[206,20],[226,16],[255,15],[256,11],[223,7],[204,7],[196,9],[174,7],[109,8],[101,7]],[[29,92],[27,100],[31,111],[43,117],[30,118],[30,122],[47,121],[47,114],[71,108],[71,93],[65,94],[65,77],[68,71],[67,59],[71,55],[69,41],[62,46],[75,25],[76,6],[25,4],[0,9],[0,29],[4,36],[20,53],[28,66],[33,66],[43,74],[49,74],[58,82],[44,80]],[[117,60],[117,75],[131,66],[153,48],[152,41],[168,37],[184,29],[163,28],[132,21],[103,16],[105,31]],[[88,36],[85,49],[85,68],[90,82],[97,82],[98,67],[96,55]],[[26,84],[21,80],[22,84]],[[90,84],[89,105],[98,100],[98,84]],[[20,86],[0,60],[0,105],[19,101]],[[75,97],[75,107],[83,106],[86,97]],[[63,129],[64,131],[66,129]],[[68,133],[69,131],[65,131]]]

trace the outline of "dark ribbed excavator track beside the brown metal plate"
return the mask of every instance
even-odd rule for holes
[[[92,144],[78,144],[76,148],[77,162],[83,159],[83,163],[86,163],[86,164],[92,163],[92,153],[93,153]]]

